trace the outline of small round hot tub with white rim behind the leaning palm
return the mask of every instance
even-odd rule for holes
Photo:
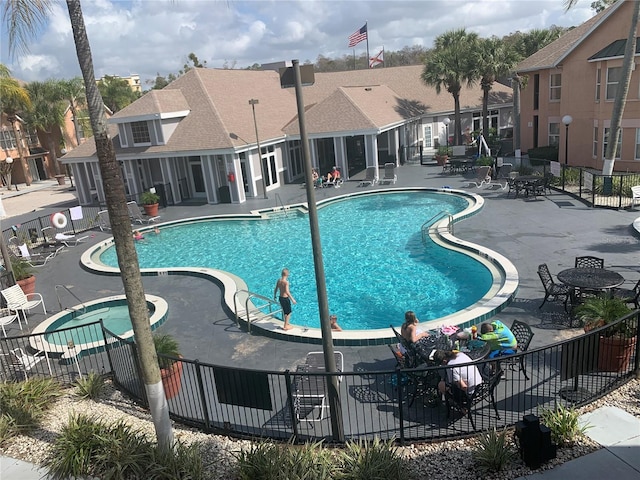
[[[155,295],[145,295],[149,308],[149,322],[155,329],[167,318],[167,302]],[[100,298],[68,308],[49,317],[33,329],[37,345],[34,348],[64,353],[71,340],[78,351],[98,351],[104,347],[104,336],[99,326],[89,325],[99,320],[104,327],[121,338],[133,337],[129,309],[124,295]],[[61,332],[62,330],[62,332]]]

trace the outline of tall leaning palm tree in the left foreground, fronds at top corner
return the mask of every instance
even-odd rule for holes
[[[80,70],[84,79],[91,128],[94,132],[98,163],[102,176],[107,209],[116,246],[129,315],[136,340],[136,352],[142,370],[149,408],[160,448],[169,451],[173,446],[173,431],[169,408],[160,378],[156,350],[149,325],[149,312],[145,299],[138,255],[133,244],[127,199],[120,166],[107,128],[107,117],[100,91],[96,85],[91,46],[82,15],[80,0],[66,0],[73,39]],[[3,20],[9,33],[9,49],[27,48],[27,40],[35,35],[40,24],[50,13],[51,0],[7,0],[4,2]]]

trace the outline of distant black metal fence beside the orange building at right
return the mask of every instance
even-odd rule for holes
[[[550,171],[549,160],[528,157],[503,157],[505,163],[513,165],[513,171],[520,175]],[[631,206],[631,187],[640,185],[640,173],[614,173],[602,175],[593,168],[572,167],[560,164],[560,174],[553,187],[579,198],[587,205],[600,208],[629,208]]]

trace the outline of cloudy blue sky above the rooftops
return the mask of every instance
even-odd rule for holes
[[[576,26],[594,15],[591,0],[564,11],[563,0],[83,0],[96,78],[176,73],[190,52],[209,68],[244,68],[318,55],[352,55],[347,37],[368,25],[371,56],[383,47],[430,48],[439,34],[466,28],[481,37]],[[366,53],[366,42],[355,47]],[[0,63],[23,81],[80,76],[66,3],[54,3],[26,54],[8,50],[0,27]]]

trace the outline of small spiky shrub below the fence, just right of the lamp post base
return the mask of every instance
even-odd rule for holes
[[[342,453],[342,475],[345,480],[387,480],[405,478],[404,462],[395,440],[347,442]]]

